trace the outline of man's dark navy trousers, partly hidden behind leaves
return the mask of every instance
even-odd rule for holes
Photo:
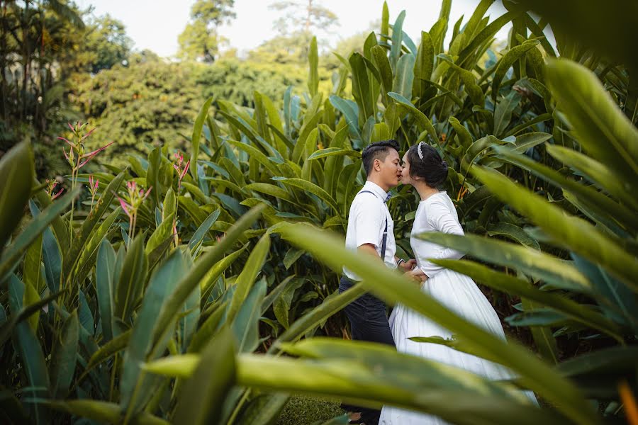
[[[355,282],[342,276],[339,283],[339,293],[348,290],[354,284]],[[364,294],[347,305],[344,311],[350,322],[352,339],[395,346],[390,324],[388,324],[386,304],[379,298],[371,294]],[[361,412],[362,421],[366,425],[379,424],[380,410],[349,404],[342,404],[341,407],[349,412]]]

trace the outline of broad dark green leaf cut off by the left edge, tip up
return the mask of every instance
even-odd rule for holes
[[[0,181],[3,182],[0,187],[0,254],[22,218],[34,174],[33,152],[28,142],[18,143],[0,159]],[[0,280],[3,275],[0,273]]]

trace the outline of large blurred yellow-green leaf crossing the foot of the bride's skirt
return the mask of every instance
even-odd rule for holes
[[[308,342],[317,344],[318,341]],[[324,344],[327,345],[327,341]],[[464,373],[463,370],[442,363],[426,365],[425,359],[361,341],[334,341],[330,344],[330,348],[337,344],[343,346],[339,354],[349,351],[364,356],[366,361],[359,361],[352,356],[345,360],[313,358],[306,361],[246,354],[237,360],[237,380],[240,385],[267,392],[337,397],[367,407],[379,408],[381,403],[427,412],[454,424],[477,421],[526,425],[565,423],[563,416],[550,413],[547,409],[532,407],[522,400],[515,401],[513,397],[495,395],[497,390],[493,389],[493,383]],[[366,366],[354,367],[359,362]],[[320,376],[322,379],[308,380],[308,376]],[[417,382],[427,382],[427,389],[416,385]],[[478,390],[479,387],[481,390]],[[413,397],[414,392],[419,397]],[[452,399],[454,403],[446,402]],[[467,418],[471,418],[471,421]]]

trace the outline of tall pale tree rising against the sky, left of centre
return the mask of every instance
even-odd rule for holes
[[[218,28],[235,18],[235,0],[197,0],[191,8],[191,22],[179,35],[179,57],[214,62],[222,38]]]

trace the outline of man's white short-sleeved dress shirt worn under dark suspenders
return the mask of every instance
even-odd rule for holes
[[[361,193],[370,191],[374,193]],[[394,240],[394,221],[384,202],[388,193],[371,181],[366,181],[364,187],[354,197],[348,215],[348,229],[346,232],[346,248],[357,251],[364,244],[374,245],[376,253],[381,258],[381,245],[384,239],[386,218],[388,220],[388,237],[386,240],[385,263],[389,268],[396,268],[394,256],[396,254],[396,242]],[[357,275],[343,268],[345,276],[352,280],[361,280]]]

